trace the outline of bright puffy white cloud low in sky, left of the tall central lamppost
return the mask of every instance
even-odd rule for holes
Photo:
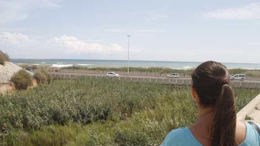
[[[109,51],[122,51],[123,48],[111,43],[110,45],[103,45],[99,43],[87,43],[82,40],[78,40],[74,36],[63,35],[61,37],[55,37],[48,41],[48,44],[59,45],[66,47],[75,53],[104,53]]]

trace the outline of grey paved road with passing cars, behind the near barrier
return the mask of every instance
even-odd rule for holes
[[[87,75],[87,76],[106,76],[106,74],[102,73],[67,73],[67,72],[50,72],[51,74],[56,74],[56,75]],[[138,76],[138,75],[119,75],[120,77],[138,77],[138,78],[166,78],[165,76]],[[175,78],[171,78],[175,79]],[[178,79],[183,79],[183,80],[191,80],[191,78],[188,77],[178,77]],[[241,81],[234,81],[234,82],[241,82]],[[254,82],[254,83],[260,83],[260,80],[245,80],[243,82]]]

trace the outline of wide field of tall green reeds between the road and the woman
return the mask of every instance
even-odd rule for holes
[[[159,145],[196,121],[189,87],[91,77],[0,96],[2,145]],[[235,89],[237,110],[260,90]]]

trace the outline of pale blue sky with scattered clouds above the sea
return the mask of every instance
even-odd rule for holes
[[[11,58],[260,63],[260,0],[0,0]]]

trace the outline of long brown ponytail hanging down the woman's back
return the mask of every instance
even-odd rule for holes
[[[232,88],[222,85],[222,92],[215,105],[212,124],[212,146],[238,146],[235,140],[236,109]]]

